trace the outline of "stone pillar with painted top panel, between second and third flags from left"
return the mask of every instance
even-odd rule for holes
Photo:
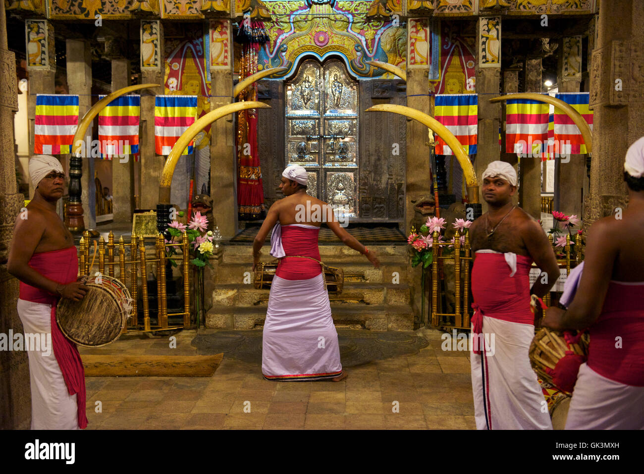
[[[141,83],[164,84],[164,70],[162,68],[163,59],[163,30],[160,21],[141,21],[141,39],[142,42],[146,41],[145,37],[148,34],[157,36],[154,57],[151,61],[147,61],[147,57],[141,58]],[[144,31],[149,25],[151,33]],[[144,55],[144,48],[141,48],[141,54]],[[144,66],[147,64],[146,66]],[[147,94],[147,91],[151,94]],[[140,190],[140,204],[142,209],[156,209],[159,197],[159,185],[161,184],[161,173],[165,163],[165,156],[158,156],[155,153],[155,95],[162,95],[164,88],[149,89],[141,94],[141,134],[138,138],[140,149],[140,183],[138,189]],[[145,94],[145,95],[144,95]]]

